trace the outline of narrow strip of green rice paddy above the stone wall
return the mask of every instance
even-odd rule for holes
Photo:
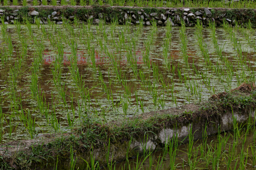
[[[99,5],[99,6],[130,6],[130,7],[167,7],[167,8],[179,8],[179,7],[209,7],[209,8],[256,8],[256,3],[254,1],[217,1],[217,0],[3,0],[0,3],[3,6],[8,5],[19,5],[19,6],[38,6],[38,5],[79,5],[79,6],[88,6],[88,5]]]

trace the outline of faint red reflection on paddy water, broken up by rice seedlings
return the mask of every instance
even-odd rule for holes
[[[45,65],[49,65],[51,64],[53,61],[56,60],[56,57],[57,57],[57,52],[56,52],[56,55],[50,55],[49,54],[49,50],[44,50],[44,64]],[[141,51],[136,51],[135,54],[136,54],[136,58],[137,58],[137,64],[143,64],[143,56],[141,54],[142,52]],[[115,55],[118,55],[120,53],[115,53]],[[122,52],[122,54],[125,54],[125,51]],[[77,63],[78,64],[91,64],[90,61],[90,57],[89,57],[89,54],[88,52],[85,52],[85,51],[77,51]],[[87,56],[87,57],[85,57]],[[71,57],[71,52],[64,52],[64,55],[63,55],[63,63],[64,64],[70,64],[70,57]],[[150,59],[151,61],[151,59]],[[110,63],[110,59],[108,56],[106,56],[104,53],[103,54],[99,54],[98,51],[95,50],[95,62],[96,64],[98,65],[102,65],[102,64],[106,64],[106,63]],[[120,60],[118,60],[118,62],[120,62],[120,64],[127,64],[127,57],[126,56],[122,56],[122,58]]]

